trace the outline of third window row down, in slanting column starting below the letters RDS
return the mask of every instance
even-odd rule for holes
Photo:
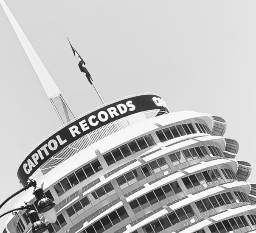
[[[138,211],[141,211],[142,209],[145,209],[150,205],[160,202],[161,200],[164,200],[168,197],[172,197],[180,192],[182,192],[182,190],[180,189],[179,184],[177,183],[177,181],[174,181],[170,184],[155,189],[141,197],[138,197],[132,202],[129,202],[129,205],[131,206],[133,212],[137,213]]]

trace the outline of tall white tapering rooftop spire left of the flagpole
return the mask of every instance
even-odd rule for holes
[[[13,14],[11,13],[10,9],[6,5],[4,0],[0,0],[0,4],[3,7],[3,10],[8,17],[14,32],[16,33],[28,59],[37,74],[37,77],[42,84],[45,93],[47,94],[49,100],[53,104],[55,111],[57,112],[59,119],[61,120],[62,124],[68,123],[70,120],[74,119],[74,115],[68,108],[68,105],[64,101],[59,88],[57,87],[56,83],[54,83],[51,75],[49,74],[48,70],[45,68],[44,64],[42,63],[41,59],[37,55],[36,51],[28,41],[25,33],[20,28],[20,25],[14,18]]]

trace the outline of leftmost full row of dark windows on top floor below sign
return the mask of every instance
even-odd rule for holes
[[[68,175],[68,177],[62,179],[59,183],[53,186],[58,196],[61,196],[66,191],[76,186],[78,183],[87,179],[88,177],[94,175],[96,172],[100,171],[102,166],[98,159],[90,162],[89,164],[84,165],[82,168],[79,168],[75,172]]]

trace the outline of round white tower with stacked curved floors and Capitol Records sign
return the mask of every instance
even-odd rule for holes
[[[169,113],[137,94],[74,119],[34,147],[18,169],[56,203],[50,233],[225,233],[256,231],[256,186],[219,116]],[[15,208],[33,204],[28,189]],[[41,217],[42,218],[42,217]],[[42,220],[44,220],[42,218]],[[5,232],[27,233],[26,211]]]

